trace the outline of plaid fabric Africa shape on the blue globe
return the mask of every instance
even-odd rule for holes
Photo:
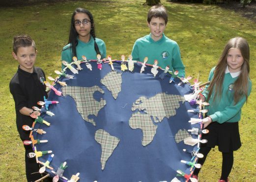
[[[142,129],[142,145],[149,144],[156,134],[157,126],[153,124],[149,114],[135,113],[129,120],[129,125],[132,129]]]

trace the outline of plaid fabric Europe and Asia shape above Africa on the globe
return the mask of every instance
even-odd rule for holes
[[[136,109],[140,111],[145,110],[145,113],[153,116],[155,122],[161,122],[164,117],[169,118],[176,114],[175,109],[179,108],[180,101],[184,103],[184,97],[166,94],[164,92],[158,93],[150,98],[142,96],[133,103],[132,111]]]

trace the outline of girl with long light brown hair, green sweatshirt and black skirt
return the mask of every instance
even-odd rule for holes
[[[219,182],[228,182],[228,175],[233,166],[233,151],[241,147],[238,121],[241,118],[241,108],[247,102],[252,90],[250,72],[250,48],[247,41],[241,37],[230,39],[216,67],[209,74],[210,85],[206,86],[200,99],[210,103],[208,106],[208,121],[204,128],[209,133],[202,138],[206,144],[200,147],[204,158],[203,164],[211,148],[216,145],[222,152],[222,174]],[[199,169],[193,177],[198,179]]]

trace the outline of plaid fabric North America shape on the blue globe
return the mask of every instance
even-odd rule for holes
[[[93,87],[78,87],[78,86],[66,86],[62,87],[63,95],[70,95],[74,98],[77,110],[82,115],[85,121],[92,123],[94,126],[96,123],[93,119],[89,119],[88,115],[94,114],[97,116],[98,112],[106,105],[106,100],[101,98],[100,102],[93,98],[93,93],[99,91],[104,93],[104,91],[98,86]]]

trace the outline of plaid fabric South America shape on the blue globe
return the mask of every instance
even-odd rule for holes
[[[111,136],[108,132],[100,129],[95,133],[95,140],[101,145],[101,169],[105,168],[106,161],[112,155],[120,139]]]

